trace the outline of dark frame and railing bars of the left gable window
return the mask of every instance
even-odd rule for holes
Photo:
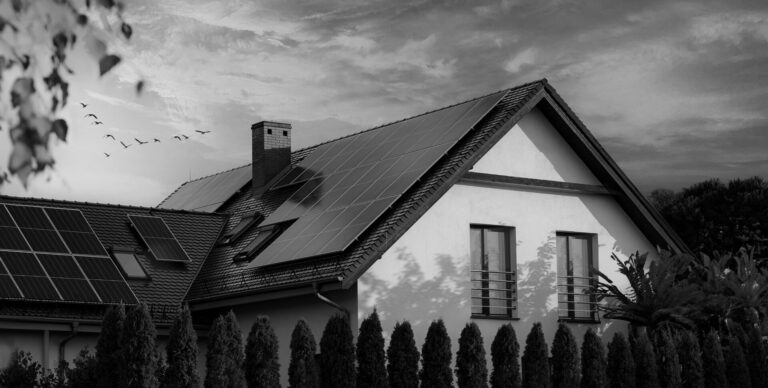
[[[517,307],[518,307],[518,300],[517,300],[517,244],[516,244],[516,229],[513,226],[507,226],[507,225],[488,225],[488,224],[470,224],[470,263],[469,263],[469,271],[470,271],[470,319],[500,319],[500,320],[506,320],[506,321],[512,321],[512,320],[518,320],[517,316]],[[490,271],[488,269],[488,260],[482,260],[480,263],[481,269],[475,270],[473,269],[473,260],[475,260],[474,257],[472,257],[472,230],[477,229],[480,230],[480,255],[481,257],[485,257],[487,253],[485,252],[485,233],[487,230],[493,230],[496,232],[502,232],[504,235],[504,252],[505,257],[503,260],[505,261],[505,267],[509,269],[509,271]],[[475,280],[473,274],[480,273],[480,279]],[[490,279],[491,273],[503,273],[504,279],[498,280],[498,281],[492,281]],[[480,288],[475,288],[475,282],[480,282]],[[500,283],[505,282],[507,284],[506,289],[501,288],[494,288],[492,289],[490,285],[492,283]],[[474,307],[476,307],[473,304],[473,301],[475,299],[478,299],[474,297],[473,292],[479,290],[481,292],[480,301],[481,301],[481,309],[482,313],[476,313],[474,312]],[[491,313],[491,298],[490,294],[491,291],[497,291],[497,292],[504,292],[505,298],[506,298],[506,314],[492,314]]]

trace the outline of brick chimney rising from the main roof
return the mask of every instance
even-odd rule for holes
[[[291,124],[261,121],[251,125],[252,179],[260,191],[291,163]]]

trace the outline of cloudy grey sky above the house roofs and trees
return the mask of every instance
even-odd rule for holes
[[[249,163],[261,120],[299,149],[540,78],[645,193],[768,174],[765,1],[126,3],[115,70],[71,56],[55,169],[0,193],[154,206]]]

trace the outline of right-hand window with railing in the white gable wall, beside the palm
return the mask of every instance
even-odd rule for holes
[[[587,291],[596,281],[592,273],[597,236],[557,233],[557,300],[560,319],[598,321],[597,301]]]

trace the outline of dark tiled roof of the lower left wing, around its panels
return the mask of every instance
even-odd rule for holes
[[[148,280],[126,279],[140,302],[146,303],[159,323],[175,315],[190,285],[208,256],[226,216],[215,213],[164,210],[148,207],[109,205],[88,202],[58,201],[36,198],[0,196],[0,204],[55,207],[80,210],[105,249],[142,253],[137,260],[149,276]],[[151,215],[162,218],[176,236],[191,261],[161,262],[146,254],[147,247],[133,230],[128,215]],[[118,265],[117,263],[115,263]],[[119,265],[118,265],[118,268]],[[0,315],[86,316],[94,312],[101,319],[103,306],[74,306],[31,301],[3,301]],[[56,308],[52,309],[51,306]]]

